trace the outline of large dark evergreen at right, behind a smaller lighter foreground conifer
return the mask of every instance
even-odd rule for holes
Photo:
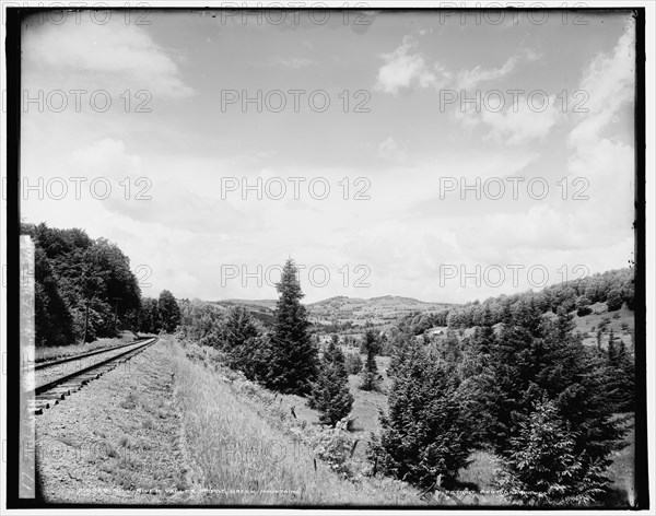
[[[621,447],[624,430],[621,421],[613,419],[602,361],[574,333],[572,315],[562,308],[558,312],[553,321],[526,332],[520,348],[509,354],[493,353],[494,385],[499,390],[491,395],[497,397],[492,403],[496,424],[491,439],[500,456],[513,450],[535,403],[546,395],[553,400],[564,424],[575,430],[570,436],[572,454],[579,461],[579,478],[585,479],[611,464],[611,454]],[[522,319],[515,319],[513,326],[515,329],[502,331],[500,341],[522,331]],[[535,328],[530,321],[529,326]],[[572,477],[573,486],[576,479]]]

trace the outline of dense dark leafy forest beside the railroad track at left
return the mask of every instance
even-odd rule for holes
[[[173,294],[141,298],[129,258],[106,238],[83,230],[23,224],[35,246],[36,345],[70,345],[117,337],[119,330],[173,331],[179,307]]]

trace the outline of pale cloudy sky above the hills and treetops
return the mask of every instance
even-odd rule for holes
[[[206,300],[274,297],[290,256],[309,302],[482,301],[633,258],[629,15],[313,15],[30,20],[23,220]]]

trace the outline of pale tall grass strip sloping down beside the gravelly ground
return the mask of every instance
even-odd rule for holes
[[[165,338],[173,356],[176,400],[198,503],[215,505],[425,505],[403,482],[348,480],[318,460],[300,427],[267,420],[274,395],[226,377],[206,360],[191,361]],[[208,359],[196,347],[197,359]],[[220,368],[220,366],[219,366]],[[241,385],[235,386],[239,383]],[[295,435],[295,437],[294,437]],[[315,467],[316,465],[316,467]]]

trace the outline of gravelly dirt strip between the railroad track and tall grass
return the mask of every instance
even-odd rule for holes
[[[157,343],[36,417],[46,502],[192,502],[167,355]]]

